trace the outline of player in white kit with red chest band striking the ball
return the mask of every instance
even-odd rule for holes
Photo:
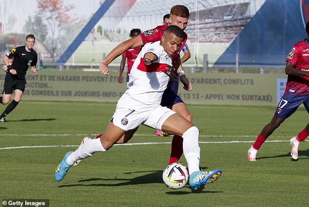
[[[198,129],[187,119],[162,107],[160,101],[172,70],[172,58],[183,40],[182,30],[169,26],[160,41],[147,43],[137,56],[131,70],[129,89],[120,97],[116,111],[99,139],[90,139],[76,151],[69,151],[56,168],[55,179],[61,181],[70,167],[80,159],[97,151],[109,150],[129,130],[140,124],[183,137],[183,151],[187,160],[193,189],[216,181],[220,169],[203,172],[199,169],[200,148]],[[101,69],[108,75],[108,69]]]

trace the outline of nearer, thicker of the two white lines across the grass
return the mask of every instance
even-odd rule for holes
[[[270,140],[265,142],[289,142],[290,140]],[[226,143],[252,143],[254,141],[218,141],[218,142],[198,142],[199,144],[226,144]],[[125,145],[157,145],[157,144],[172,144],[172,142],[141,142],[141,143],[126,143],[116,144],[115,146]],[[42,146],[19,146],[19,147],[7,147],[0,148],[0,150],[12,150],[12,149],[24,149],[24,148],[56,148],[56,147],[78,147],[79,145],[42,145]]]

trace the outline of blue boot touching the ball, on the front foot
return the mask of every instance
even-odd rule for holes
[[[221,169],[203,172],[195,171],[190,175],[189,184],[191,188],[197,189],[201,185],[210,184],[216,181],[222,174]]]

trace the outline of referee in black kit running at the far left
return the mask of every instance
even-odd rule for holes
[[[5,116],[12,112],[21,100],[26,85],[25,75],[29,66],[31,66],[31,71],[33,74],[38,74],[38,70],[36,69],[38,55],[37,52],[32,49],[35,40],[36,38],[34,35],[28,35],[25,41],[26,45],[12,48],[2,57],[3,62],[6,65],[6,67],[2,67],[2,70],[5,70],[6,75],[4,80],[3,96],[0,97],[0,103],[8,104],[13,92],[14,100],[0,115],[0,122],[7,122],[5,120]]]

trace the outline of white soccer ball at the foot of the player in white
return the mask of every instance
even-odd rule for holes
[[[164,169],[162,179],[169,188],[179,189],[187,184],[189,173],[183,165],[173,163]]]

